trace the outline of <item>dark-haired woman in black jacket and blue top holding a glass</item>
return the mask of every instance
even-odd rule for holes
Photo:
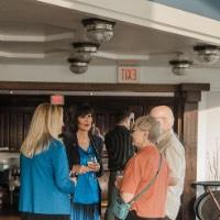
[[[70,107],[63,140],[72,175],[77,177],[72,204],[72,220],[99,220],[102,175],[102,140],[91,134],[94,110],[88,105]]]

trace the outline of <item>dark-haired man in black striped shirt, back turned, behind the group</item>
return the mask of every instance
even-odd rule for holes
[[[133,125],[134,113],[128,109],[121,110],[116,114],[116,127],[105,136],[107,153],[109,156],[109,183],[108,183],[108,207],[105,219],[113,220],[114,216],[111,211],[112,202],[114,201],[118,189],[114,182],[118,175],[122,175],[123,168],[135,153],[135,147],[132,144],[130,129]]]

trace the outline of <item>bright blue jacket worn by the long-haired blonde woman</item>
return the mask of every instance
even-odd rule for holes
[[[70,215],[75,185],[69,180],[66,150],[53,140],[47,151],[21,160],[19,210],[30,213]]]

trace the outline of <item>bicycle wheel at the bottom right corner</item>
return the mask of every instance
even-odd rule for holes
[[[212,191],[215,198],[220,204],[220,191]],[[200,198],[197,207],[197,216],[200,220],[220,220],[220,211],[218,210],[210,194],[206,193]]]

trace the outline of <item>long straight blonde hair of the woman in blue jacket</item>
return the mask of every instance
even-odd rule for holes
[[[21,153],[26,157],[48,148],[52,139],[57,139],[63,125],[63,108],[50,103],[40,105],[34,111]]]

